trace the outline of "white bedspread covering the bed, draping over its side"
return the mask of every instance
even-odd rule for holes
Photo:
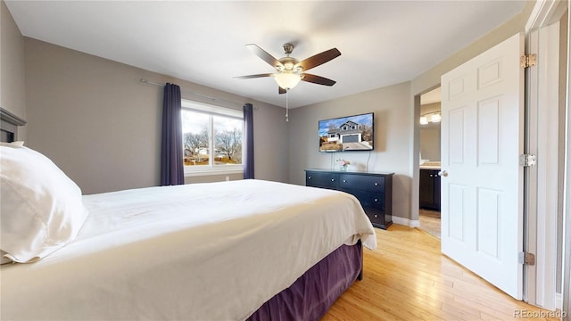
[[[84,196],[77,238],[0,268],[0,319],[242,320],[337,247],[375,249],[337,191],[242,180]]]

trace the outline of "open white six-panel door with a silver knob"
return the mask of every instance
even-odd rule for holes
[[[442,77],[442,251],[522,299],[524,35]]]

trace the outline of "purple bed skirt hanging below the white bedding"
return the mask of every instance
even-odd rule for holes
[[[362,246],[342,245],[294,284],[264,303],[247,320],[319,320],[362,271]]]

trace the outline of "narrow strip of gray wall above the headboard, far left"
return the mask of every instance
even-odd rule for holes
[[[4,1],[0,1],[0,107],[26,119],[24,79],[24,39]],[[19,128],[18,139],[26,138]]]

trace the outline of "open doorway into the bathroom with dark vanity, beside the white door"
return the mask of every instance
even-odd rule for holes
[[[420,229],[441,237],[440,221],[440,87],[420,96],[418,221]]]

